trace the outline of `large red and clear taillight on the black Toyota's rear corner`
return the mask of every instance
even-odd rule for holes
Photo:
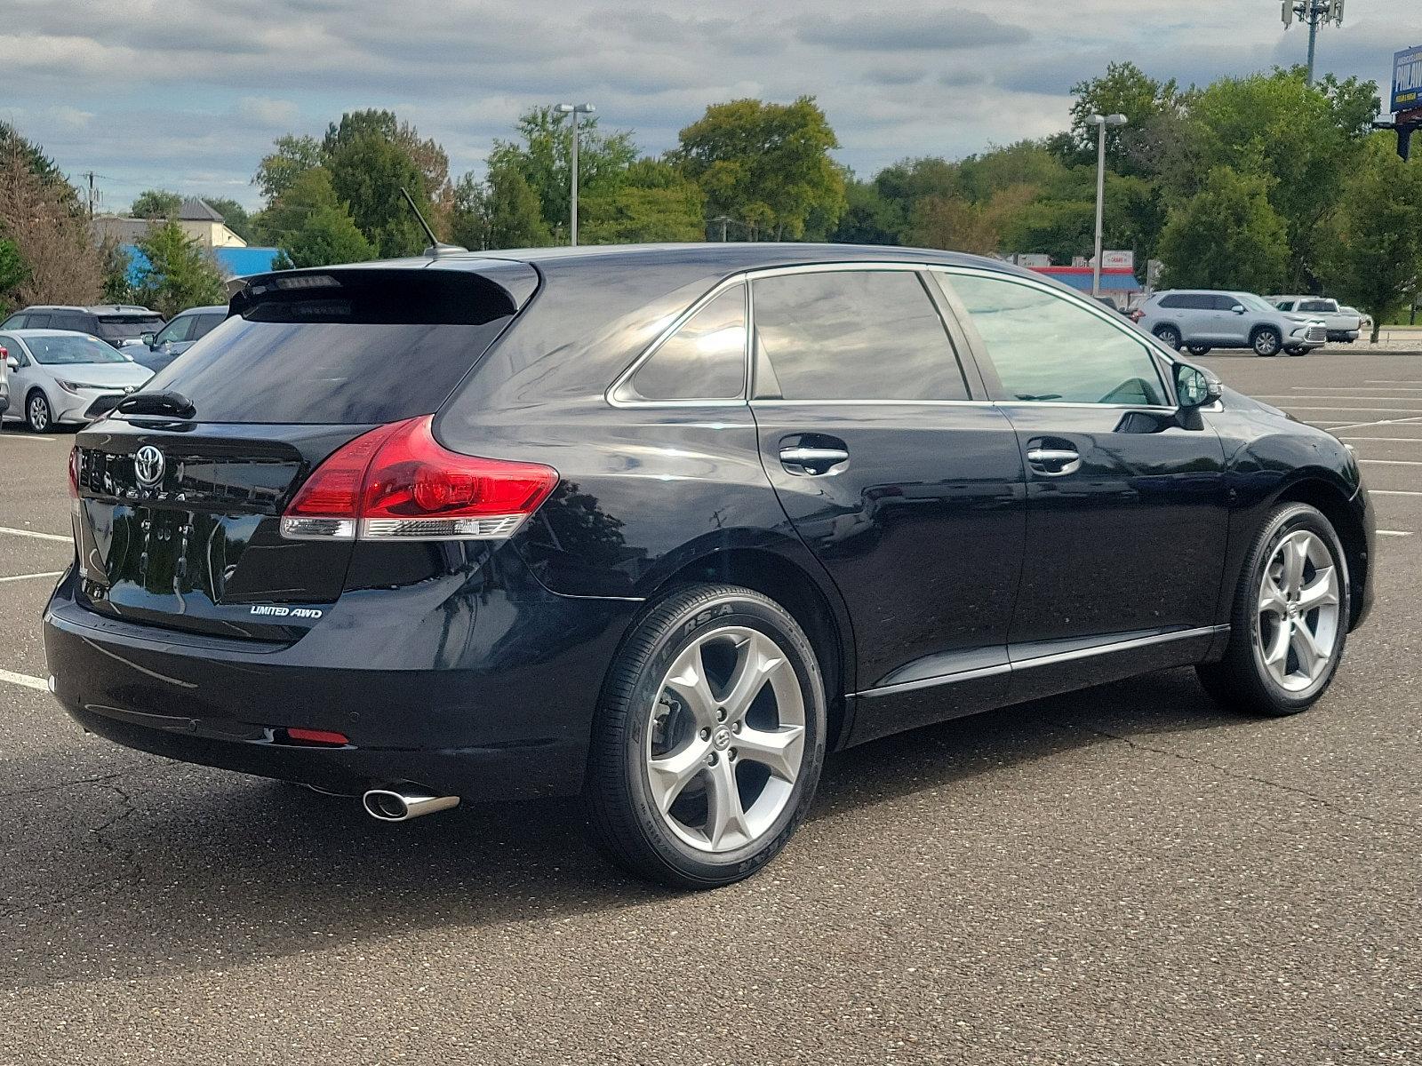
[[[542,463],[459,455],[432,415],[391,422],[333,452],[282,516],[301,540],[502,540],[557,486]]]

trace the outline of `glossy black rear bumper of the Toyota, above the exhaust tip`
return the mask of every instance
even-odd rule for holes
[[[512,550],[493,556],[483,570],[499,573],[483,580],[347,593],[284,647],[98,615],[75,601],[71,571],[44,615],[51,685],[90,732],[182,762],[333,792],[576,793],[603,675],[638,604],[556,596]],[[350,743],[296,743],[296,726]]]

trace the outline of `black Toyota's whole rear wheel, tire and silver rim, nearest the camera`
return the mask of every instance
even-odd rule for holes
[[[819,664],[789,613],[735,586],[671,593],[603,688],[584,787],[594,841],[677,888],[749,877],[803,820],[825,731]]]

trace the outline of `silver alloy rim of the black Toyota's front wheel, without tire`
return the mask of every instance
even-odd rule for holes
[[[1328,674],[1340,624],[1338,567],[1307,529],[1285,536],[1264,566],[1254,650],[1273,681],[1303,692]]]

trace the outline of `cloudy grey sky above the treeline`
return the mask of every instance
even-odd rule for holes
[[[1348,0],[1320,67],[1385,82],[1422,0]],[[660,152],[707,104],[812,94],[862,175],[1065,125],[1111,60],[1182,84],[1301,63],[1278,0],[0,0],[0,117],[104,208],[145,188],[259,205],[272,138],[392,108],[482,169],[539,102],[587,99]]]

